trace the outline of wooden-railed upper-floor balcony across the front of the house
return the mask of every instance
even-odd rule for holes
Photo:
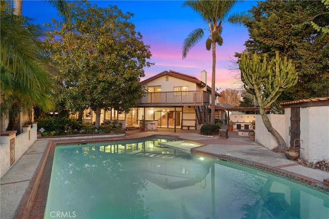
[[[202,90],[146,93],[145,96],[139,100],[137,106],[209,105],[210,96],[209,92],[204,92]]]

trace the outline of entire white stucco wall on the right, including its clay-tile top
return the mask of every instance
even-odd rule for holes
[[[280,104],[283,115],[267,114],[272,126],[283,137],[286,147],[300,143],[300,157],[310,162],[329,160],[329,97]],[[278,147],[261,115],[255,115],[255,141],[273,150]]]

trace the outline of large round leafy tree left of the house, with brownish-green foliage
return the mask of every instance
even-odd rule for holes
[[[73,112],[91,107],[100,125],[101,109],[129,112],[143,96],[139,83],[152,63],[149,46],[116,6],[99,8],[88,2],[72,7],[72,25],[53,21],[46,39],[49,57],[63,75],[59,98]]]

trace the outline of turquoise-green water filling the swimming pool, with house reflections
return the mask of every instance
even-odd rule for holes
[[[56,147],[45,218],[329,218],[324,193],[166,141]]]

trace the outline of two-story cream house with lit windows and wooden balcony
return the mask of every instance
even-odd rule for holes
[[[201,71],[201,80],[194,76],[173,70],[145,79],[141,83],[147,93],[129,114],[117,114],[115,111],[102,112],[106,120],[125,120],[125,127],[138,127],[142,116],[153,127],[198,130],[202,124],[210,121],[211,88],[207,86],[207,72]],[[219,96],[216,93],[216,96]],[[89,112],[89,114],[88,114]],[[85,121],[93,121],[93,113],[84,113]],[[216,107],[215,120],[222,121],[225,110]]]

